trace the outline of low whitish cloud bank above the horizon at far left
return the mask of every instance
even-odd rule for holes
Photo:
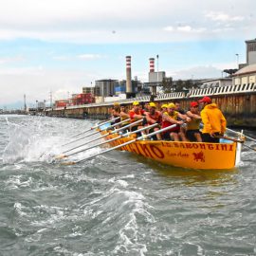
[[[100,72],[100,73],[99,73]],[[90,86],[95,78],[107,77],[103,71],[86,72],[83,69],[49,69],[38,67],[16,67],[0,69],[0,108],[7,103],[23,100],[27,102],[49,101],[67,98],[74,93],[82,93],[82,86]],[[90,82],[88,82],[90,81]]]

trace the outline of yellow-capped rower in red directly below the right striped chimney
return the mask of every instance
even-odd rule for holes
[[[154,123],[158,123],[159,127],[155,127],[155,128],[147,130],[148,134],[159,131],[160,124],[162,122],[162,114],[161,114],[160,111],[157,111],[155,108],[156,108],[155,102],[150,102],[149,103],[149,112],[146,113],[147,124],[144,125],[144,126],[151,125],[151,124],[154,124]],[[157,138],[157,140],[162,139],[160,134],[156,134],[155,137]],[[155,139],[155,137],[153,137],[153,138]]]

